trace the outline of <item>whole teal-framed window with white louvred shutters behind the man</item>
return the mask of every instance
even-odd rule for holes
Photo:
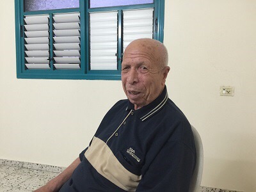
[[[125,47],[163,42],[164,0],[15,0],[17,77],[120,79]]]

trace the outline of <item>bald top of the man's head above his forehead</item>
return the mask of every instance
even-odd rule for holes
[[[134,40],[126,47],[125,52],[130,52],[131,50],[145,51],[154,60],[154,63],[159,65],[159,67],[163,68],[168,66],[168,51],[164,44],[157,40],[151,38],[141,38]]]

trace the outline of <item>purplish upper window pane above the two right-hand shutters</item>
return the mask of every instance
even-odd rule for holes
[[[154,3],[154,0],[90,0],[90,8]]]

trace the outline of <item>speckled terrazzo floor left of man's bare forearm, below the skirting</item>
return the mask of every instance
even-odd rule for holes
[[[31,192],[46,184],[56,175],[58,173],[0,164],[0,191]]]

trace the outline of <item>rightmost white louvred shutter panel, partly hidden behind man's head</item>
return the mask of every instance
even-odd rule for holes
[[[124,10],[123,50],[138,38],[153,38],[154,8]]]

